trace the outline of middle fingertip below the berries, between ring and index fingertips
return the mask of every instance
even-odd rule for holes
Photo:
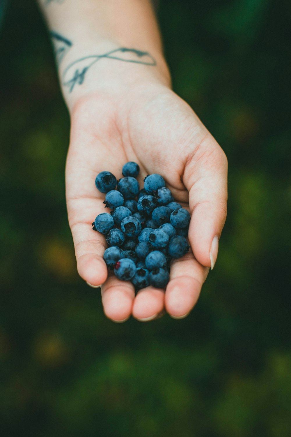
[[[142,322],[147,322],[155,319],[163,309],[164,290],[147,287],[137,293],[134,299],[132,315]]]

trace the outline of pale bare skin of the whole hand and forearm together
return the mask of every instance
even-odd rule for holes
[[[78,272],[92,286],[101,285],[108,318],[123,322],[132,315],[148,321],[165,311],[182,318],[197,302],[209,267],[216,262],[226,219],[226,156],[194,111],[171,90],[150,2],[65,0],[42,7],[51,29],[70,40],[79,35],[77,47],[70,47],[59,67],[61,84],[70,79],[63,80],[72,62],[118,47],[147,52],[156,61],[144,65],[103,58],[86,70],[83,82],[74,84],[71,92],[62,85],[71,116],[66,164],[68,220]],[[131,55],[131,61],[149,59]],[[175,200],[191,212],[192,250],[172,262],[165,291],[147,287],[135,295],[130,282],[108,274],[103,260],[106,240],[92,230],[96,215],[109,212],[103,205],[105,195],[96,190],[96,175],[109,170],[120,178],[127,161],[139,164],[140,187],[147,174],[159,173]]]

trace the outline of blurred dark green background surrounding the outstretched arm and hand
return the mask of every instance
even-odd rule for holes
[[[161,0],[175,91],[229,159],[216,267],[186,319],[118,325],[78,277],[69,118],[34,2],[0,35],[0,434],[291,435],[289,0]],[[290,36],[290,35],[289,35]]]

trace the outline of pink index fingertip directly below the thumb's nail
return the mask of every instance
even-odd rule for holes
[[[173,261],[165,294],[165,308],[170,316],[179,319],[188,315],[199,298],[208,271],[192,252]]]

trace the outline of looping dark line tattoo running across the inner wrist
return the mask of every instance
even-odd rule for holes
[[[136,49],[126,49],[120,47],[120,49],[111,50],[104,55],[91,55],[80,58],[77,61],[72,62],[63,73],[63,85],[68,87],[71,93],[76,83],[82,85],[85,80],[85,75],[92,65],[98,62],[100,59],[116,59],[123,62],[133,62],[135,64],[143,64],[149,66],[157,65],[156,60],[148,52],[141,52]],[[143,60],[139,59],[143,58]]]

